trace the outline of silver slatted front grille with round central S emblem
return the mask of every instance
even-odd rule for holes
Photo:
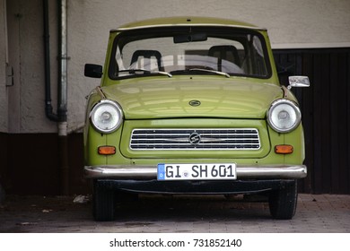
[[[134,129],[131,150],[258,150],[255,128]]]

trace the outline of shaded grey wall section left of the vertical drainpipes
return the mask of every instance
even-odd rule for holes
[[[3,0],[5,1],[5,0]],[[56,123],[48,121],[44,113],[44,46],[43,46],[43,8],[40,0],[6,1],[0,13],[4,13],[6,22],[1,22],[2,28],[7,28],[6,65],[13,70],[13,85],[2,85],[5,88],[6,99],[0,106],[7,106],[7,127],[0,127],[4,133],[47,133],[55,132]],[[57,100],[57,20],[56,1],[50,1],[51,48],[53,82],[52,96]],[[3,36],[1,36],[3,38]],[[1,58],[4,60],[4,57]],[[6,65],[1,66],[1,70]],[[1,94],[0,94],[1,95]],[[3,116],[2,116],[3,118]]]

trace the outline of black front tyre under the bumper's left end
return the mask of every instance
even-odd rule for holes
[[[95,221],[114,220],[114,190],[93,182],[92,214]]]

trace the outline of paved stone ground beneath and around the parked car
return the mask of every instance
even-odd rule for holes
[[[91,203],[74,198],[8,195],[0,232],[350,233],[350,195],[301,194],[290,221],[272,220],[260,198],[142,195],[119,204],[115,221],[96,222]]]

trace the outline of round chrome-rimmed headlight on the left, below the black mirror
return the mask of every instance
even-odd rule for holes
[[[109,134],[118,129],[123,120],[123,113],[116,102],[101,100],[92,108],[90,119],[96,130]]]

